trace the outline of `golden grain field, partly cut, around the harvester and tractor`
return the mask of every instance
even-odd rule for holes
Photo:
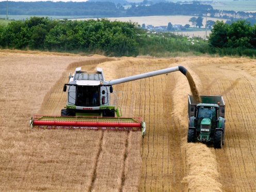
[[[76,66],[103,68],[107,79],[182,65],[200,94],[223,95],[226,144],[187,143],[186,77],[160,75],[114,86],[137,132],[30,130],[32,114],[59,115],[62,86]],[[256,61],[82,57],[0,52],[0,190],[253,191],[256,189]]]

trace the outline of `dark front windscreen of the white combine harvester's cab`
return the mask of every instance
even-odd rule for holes
[[[76,106],[97,107],[100,106],[99,86],[77,86]]]

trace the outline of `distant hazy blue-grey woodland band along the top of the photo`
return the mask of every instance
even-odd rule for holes
[[[0,2],[0,14],[6,14],[6,3]],[[8,2],[12,15],[88,15],[89,17],[130,17],[145,15],[202,15],[211,5],[178,4],[133,5],[129,9],[110,2]]]

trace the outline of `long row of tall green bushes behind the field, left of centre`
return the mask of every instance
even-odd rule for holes
[[[138,55],[136,25],[108,20],[52,21],[33,17],[0,26],[0,46],[9,49],[83,51]]]

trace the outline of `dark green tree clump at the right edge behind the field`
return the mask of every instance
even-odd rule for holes
[[[209,44],[219,48],[256,49],[256,25],[244,20],[226,24],[217,21],[210,34]]]

